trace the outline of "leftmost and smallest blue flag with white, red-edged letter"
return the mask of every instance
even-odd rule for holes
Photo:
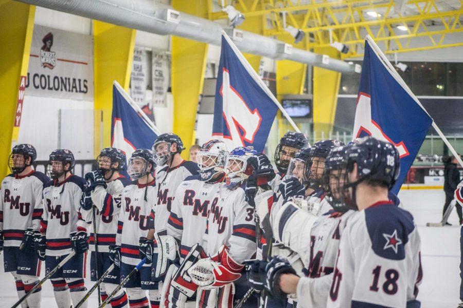
[[[111,146],[126,153],[127,159],[136,149],[151,149],[157,134],[148,121],[126,91],[114,82]]]

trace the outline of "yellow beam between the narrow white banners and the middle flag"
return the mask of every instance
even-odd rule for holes
[[[173,0],[172,6],[181,12],[206,18],[206,1]],[[178,134],[187,148],[182,157],[188,159],[188,149],[195,136],[192,127],[196,117],[199,95],[203,89],[206,71],[207,47],[205,43],[172,36],[172,95],[174,100],[173,132]]]

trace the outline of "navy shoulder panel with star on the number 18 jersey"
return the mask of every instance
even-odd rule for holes
[[[415,230],[412,214],[393,204],[381,202],[365,210],[365,224],[376,255],[391,259],[405,259],[404,246]]]

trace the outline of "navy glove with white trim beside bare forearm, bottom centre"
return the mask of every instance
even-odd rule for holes
[[[281,274],[296,274],[294,268],[291,267],[288,259],[282,257],[274,257],[265,266],[265,289],[272,294],[273,297],[284,299],[288,294],[281,291],[279,283]]]

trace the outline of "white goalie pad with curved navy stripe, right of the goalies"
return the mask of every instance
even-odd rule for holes
[[[316,219],[293,202],[285,203],[278,210],[272,226],[275,240],[297,253],[306,253],[310,247],[310,230]]]

